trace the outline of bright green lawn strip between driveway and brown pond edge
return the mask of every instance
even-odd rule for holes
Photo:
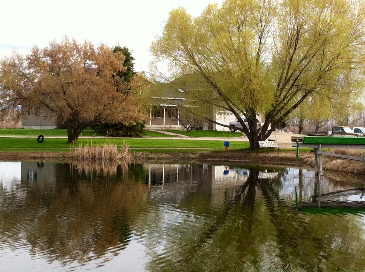
[[[114,143],[118,147],[126,141],[131,149],[224,149],[223,141],[200,141],[200,140],[183,140],[183,139],[138,139],[138,138],[94,138],[79,139],[79,144],[96,145],[98,143]],[[71,145],[67,143],[67,139],[47,138],[43,143],[37,142],[37,137],[30,138],[1,138],[0,151],[65,151]],[[249,147],[248,142],[230,141],[230,149],[244,149]]]

